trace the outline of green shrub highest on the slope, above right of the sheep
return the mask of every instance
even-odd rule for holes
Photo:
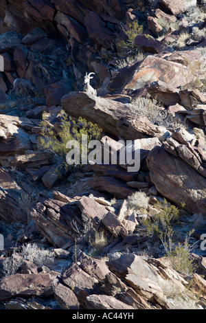
[[[130,55],[137,54],[139,49],[135,45],[135,37],[143,33],[144,27],[139,25],[137,20],[133,21],[133,23],[129,23],[127,27],[124,27],[123,25],[121,27],[128,38],[126,41],[119,41],[119,47],[122,47]]]

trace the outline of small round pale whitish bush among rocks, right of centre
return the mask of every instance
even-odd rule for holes
[[[127,199],[128,208],[138,210],[139,212],[146,212],[149,203],[149,197],[145,192],[135,192]]]

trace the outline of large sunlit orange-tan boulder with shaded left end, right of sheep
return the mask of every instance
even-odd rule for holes
[[[174,88],[184,86],[195,80],[198,73],[203,75],[205,71],[203,57],[195,51],[192,56],[191,52],[190,54],[184,54],[185,52],[168,54],[166,59],[162,58],[161,54],[149,55],[141,62],[119,69],[106,87],[113,93],[130,93],[158,80]],[[199,65],[195,63],[196,60],[200,62]],[[195,65],[196,68],[192,69],[191,66]]]

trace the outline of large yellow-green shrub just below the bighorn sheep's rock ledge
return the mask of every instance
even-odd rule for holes
[[[87,141],[98,140],[102,129],[97,124],[87,122],[87,120],[78,118],[78,122],[71,120],[65,113],[62,115],[62,122],[58,135],[54,130],[54,126],[49,123],[47,116],[43,115],[43,121],[40,124],[42,131],[39,139],[40,145],[48,151],[52,151],[60,158],[65,166],[66,155],[69,152],[67,142],[76,140],[80,144],[80,155],[82,154],[82,135],[87,135]],[[81,165],[80,165],[81,166]]]

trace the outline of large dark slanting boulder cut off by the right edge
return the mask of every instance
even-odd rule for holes
[[[163,147],[148,154],[150,178],[158,192],[192,213],[206,210],[205,178],[179,157]]]

